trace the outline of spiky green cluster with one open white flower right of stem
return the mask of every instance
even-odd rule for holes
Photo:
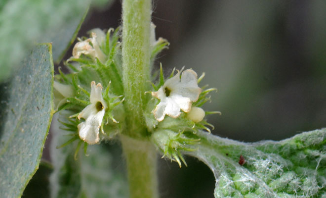
[[[192,69],[183,71],[175,69],[168,79],[164,81],[161,65],[160,80],[158,85],[153,84],[154,91],[151,95],[156,102],[149,103],[148,111],[151,110],[153,119],[147,118],[147,126],[153,131],[152,140],[163,152],[163,156],[178,162],[185,163],[180,150],[190,151],[189,146],[196,144],[197,139],[187,136],[198,130],[213,127],[204,119],[205,115],[220,113],[218,111],[204,111],[201,106],[209,100],[208,93],[216,89],[204,89],[198,83],[204,78],[204,74],[198,78]],[[147,116],[149,116],[147,114]]]

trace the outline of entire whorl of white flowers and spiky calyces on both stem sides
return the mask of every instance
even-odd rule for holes
[[[64,74],[59,69],[54,82],[55,109],[64,110],[60,122],[63,129],[72,132],[69,134],[72,138],[61,147],[78,141],[75,157],[82,144],[86,153],[88,145],[125,133],[128,123],[123,105],[119,28],[111,28],[107,33],[93,29],[90,38],[78,40],[73,56],[65,63],[70,73]],[[169,44],[162,38],[156,40],[154,24],[150,42],[153,64],[155,56]],[[206,122],[205,116],[217,113],[201,108],[209,100],[207,94],[215,90],[198,86],[203,77],[204,74],[198,78],[194,70],[182,68],[173,69],[165,79],[161,64],[159,82],[147,91],[152,96],[144,104],[147,138],[163,156],[177,161],[180,166],[181,161],[186,164],[181,151],[191,151],[189,146],[198,142],[191,134],[203,129],[210,132],[207,126],[212,125]]]

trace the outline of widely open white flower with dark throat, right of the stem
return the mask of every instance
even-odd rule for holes
[[[155,118],[160,122],[165,114],[176,118],[180,115],[180,109],[189,112],[192,102],[198,100],[202,89],[197,84],[197,73],[192,69],[180,71],[172,78],[165,81],[164,85],[152,96],[160,99],[160,103],[153,110]]]

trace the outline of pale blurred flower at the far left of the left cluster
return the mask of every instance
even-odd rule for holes
[[[56,81],[53,82],[54,109],[67,101],[67,98],[74,97],[74,89],[71,85],[64,85]]]

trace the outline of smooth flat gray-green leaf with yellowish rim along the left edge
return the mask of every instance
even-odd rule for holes
[[[37,45],[0,86],[0,197],[20,197],[39,167],[53,112],[51,44]]]

